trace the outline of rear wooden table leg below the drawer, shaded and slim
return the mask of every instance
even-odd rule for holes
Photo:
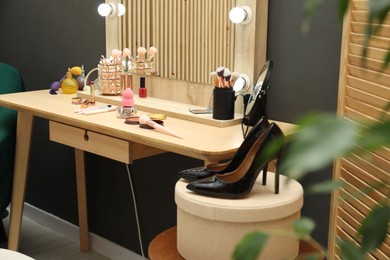
[[[85,164],[84,151],[75,150],[76,161],[76,182],[77,182],[77,206],[79,212],[80,228],[80,251],[89,251],[89,231],[88,231],[88,211],[87,211],[87,191],[85,184]]]

